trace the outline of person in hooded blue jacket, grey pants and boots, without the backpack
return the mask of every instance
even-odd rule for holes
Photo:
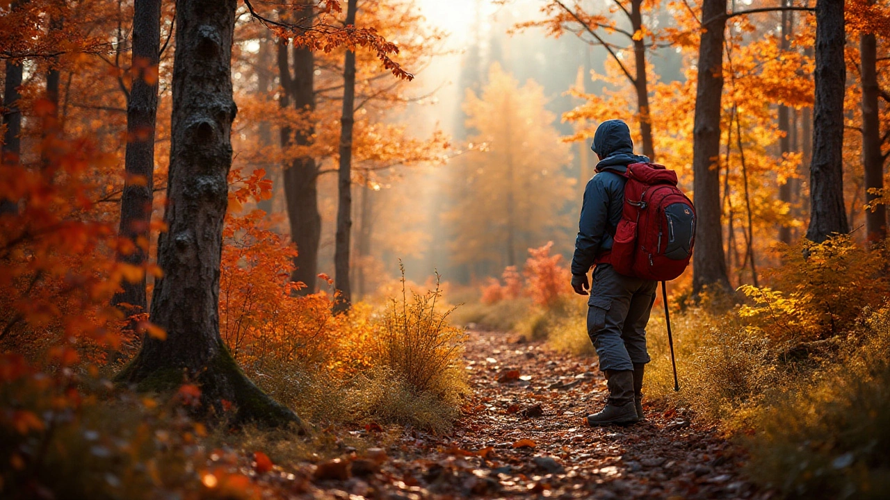
[[[587,334],[606,376],[609,402],[603,411],[588,415],[587,423],[635,423],[643,418],[643,372],[650,361],[645,328],[658,281],[617,273],[609,254],[624,206],[627,178],[622,173],[627,165],[650,160],[634,154],[630,129],[617,119],[597,127],[590,149],[600,161],[584,190],[571,286],[577,294],[590,294]],[[593,266],[592,283],[588,283],[587,271]]]

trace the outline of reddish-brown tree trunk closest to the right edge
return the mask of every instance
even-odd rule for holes
[[[880,117],[878,116],[878,41],[873,33],[859,40],[862,58],[862,165],[865,170],[865,201],[871,203],[877,194],[869,190],[884,189],[884,157],[881,155]],[[865,230],[869,241],[886,238],[886,206],[865,211]]]

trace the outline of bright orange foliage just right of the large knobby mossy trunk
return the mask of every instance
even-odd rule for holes
[[[271,182],[256,170],[230,174],[230,212],[223,229],[220,335],[242,367],[258,373],[270,365],[299,364],[352,372],[370,363],[367,327],[335,316],[326,292],[297,295],[290,281],[296,249],[268,227],[262,210],[239,214],[248,201],[269,194]],[[325,277],[322,276],[322,279]]]

